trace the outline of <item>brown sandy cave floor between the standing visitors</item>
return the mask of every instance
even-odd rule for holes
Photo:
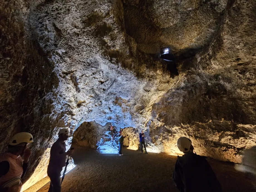
[[[73,159],[77,166],[67,173],[62,192],[71,191],[173,191],[175,156],[160,153],[141,154],[124,148],[123,156],[99,154],[76,147]],[[208,158],[223,191],[255,191],[249,178],[237,172],[232,163]],[[47,192],[49,183],[38,192]]]

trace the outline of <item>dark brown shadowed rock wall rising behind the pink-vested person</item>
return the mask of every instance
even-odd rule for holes
[[[40,168],[48,162],[54,128],[65,126],[51,117],[52,101],[47,95],[58,87],[54,63],[45,57],[28,22],[30,9],[38,3],[0,4],[0,151],[6,150],[9,139],[17,132],[33,134],[35,142],[23,181],[35,173],[32,184],[45,177],[45,173],[40,175]]]

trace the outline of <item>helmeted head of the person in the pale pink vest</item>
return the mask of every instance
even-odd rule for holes
[[[33,142],[33,136],[28,132],[15,134],[8,145],[8,152],[17,156],[23,155],[29,143]]]

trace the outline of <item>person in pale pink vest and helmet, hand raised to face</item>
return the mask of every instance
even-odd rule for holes
[[[0,155],[0,191],[19,192],[21,179],[28,168],[31,149],[28,144],[33,142],[33,136],[28,132],[15,134],[8,145],[8,151]],[[23,159],[21,158],[23,156]]]

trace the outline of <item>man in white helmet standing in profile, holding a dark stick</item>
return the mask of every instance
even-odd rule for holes
[[[48,192],[60,192],[61,183],[60,176],[62,168],[66,165],[67,155],[72,154],[72,150],[66,152],[65,141],[68,139],[69,131],[63,128],[58,133],[58,140],[53,143],[50,151],[50,161],[47,168],[47,174],[50,177],[51,183]]]

